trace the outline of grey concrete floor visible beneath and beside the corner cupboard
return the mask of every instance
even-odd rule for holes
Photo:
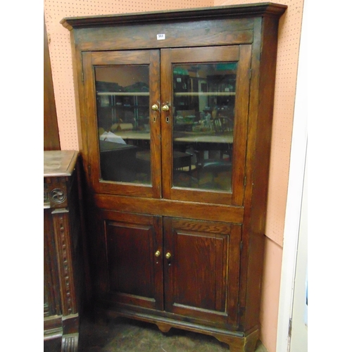
[[[161,332],[154,324],[117,318],[106,324],[83,319],[79,352],[229,352],[215,337],[172,328]],[[256,352],[268,352],[258,342]]]

